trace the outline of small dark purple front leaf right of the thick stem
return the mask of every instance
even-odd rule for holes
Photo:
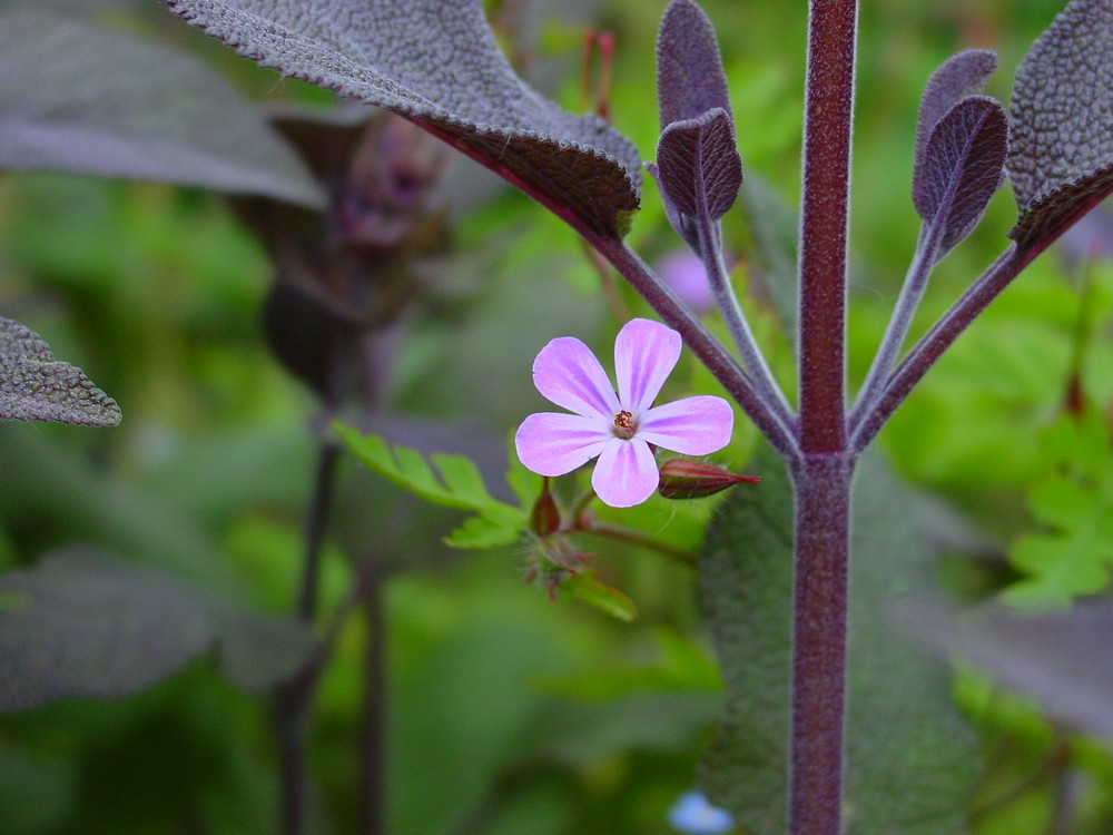
[[[1008,117],[987,96],[969,96],[938,120],[913,178],[913,203],[938,234],[936,257],[962,240],[1001,186]]]

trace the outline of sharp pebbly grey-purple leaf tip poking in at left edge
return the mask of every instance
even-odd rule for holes
[[[0,420],[115,426],[120,409],[33,331],[0,318]]]

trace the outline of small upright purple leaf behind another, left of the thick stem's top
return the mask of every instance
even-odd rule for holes
[[[672,0],[661,18],[657,98],[662,130],[717,107],[730,115],[730,91],[715,27],[692,0]]]

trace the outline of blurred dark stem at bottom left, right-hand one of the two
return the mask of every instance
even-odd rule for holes
[[[372,559],[374,559],[372,557]],[[384,576],[365,570],[363,613],[367,642],[363,654],[363,727],[359,734],[359,833],[386,833],[386,617]]]

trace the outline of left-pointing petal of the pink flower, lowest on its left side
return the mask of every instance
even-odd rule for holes
[[[531,414],[514,435],[518,458],[539,475],[563,475],[598,455],[617,440],[600,418],[556,412]]]

